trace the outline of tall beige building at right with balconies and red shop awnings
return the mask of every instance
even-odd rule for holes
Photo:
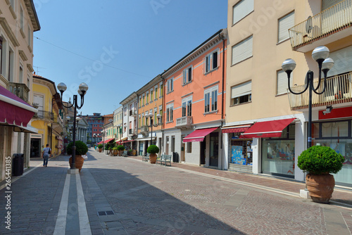
[[[351,23],[351,0],[228,1],[225,169],[304,180],[297,157],[307,148],[308,91],[291,94],[281,65],[296,61],[294,91],[303,91],[308,70],[316,87],[312,51],[327,46],[335,64],[325,93],[313,93],[312,144],[344,155],[334,177],[339,185],[352,185]]]

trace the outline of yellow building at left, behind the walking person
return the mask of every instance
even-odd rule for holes
[[[38,113],[32,119],[38,134],[31,134],[31,158],[39,158],[43,146],[49,144],[53,155],[63,150],[63,132],[65,123],[60,95],[55,83],[44,77],[33,75],[33,106]]]

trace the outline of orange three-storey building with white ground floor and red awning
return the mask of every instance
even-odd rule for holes
[[[161,75],[163,152],[174,162],[222,168],[227,30],[219,30]]]

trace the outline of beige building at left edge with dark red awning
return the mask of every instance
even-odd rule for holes
[[[33,32],[40,30],[32,0],[0,1],[0,181],[15,153],[30,159]],[[18,115],[20,113],[21,115]],[[8,176],[8,174],[7,174]]]

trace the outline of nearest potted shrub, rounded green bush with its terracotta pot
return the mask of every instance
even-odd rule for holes
[[[329,203],[334,191],[334,176],[341,170],[344,157],[328,146],[312,146],[298,156],[298,167],[306,175],[309,195],[317,203]]]

